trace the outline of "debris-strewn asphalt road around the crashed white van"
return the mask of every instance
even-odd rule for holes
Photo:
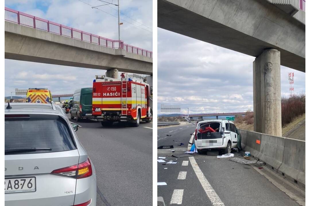
[[[218,159],[216,156],[206,154],[197,154],[190,158],[171,157],[171,154],[184,153],[182,150],[187,149],[190,133],[193,133],[194,128],[192,126],[177,126],[157,130],[158,146],[179,145],[175,143],[176,141],[184,143],[184,146],[176,146],[174,153],[168,149],[157,149],[158,157],[166,157],[164,159],[166,162],[171,160],[177,162],[166,165],[164,165],[166,162],[157,162],[157,182],[166,182],[167,184],[157,186],[157,196],[163,197],[166,205],[170,205],[170,201],[178,203],[181,201],[181,204],[178,205],[212,205],[212,202],[219,202],[217,197],[223,204],[214,205],[299,205],[250,165],[242,165],[227,158]],[[166,136],[167,134],[171,136]],[[240,153],[234,154],[237,157]],[[196,164],[193,161],[193,164],[191,163],[191,158]],[[182,163],[186,164],[186,161],[188,161],[188,165],[182,165]],[[254,166],[258,167],[258,165]],[[196,174],[197,167],[201,170],[200,174]],[[178,179],[181,171],[183,174],[186,172],[185,179],[184,175],[183,179]],[[210,186],[202,187],[202,185],[207,185],[206,182],[212,188]],[[182,192],[179,192],[180,190],[183,190],[183,195]],[[175,195],[173,195],[174,192]]]

